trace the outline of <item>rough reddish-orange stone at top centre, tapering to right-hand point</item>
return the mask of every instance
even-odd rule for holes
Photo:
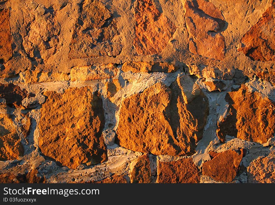
[[[167,46],[176,27],[151,0],[137,0],[134,9],[136,37],[133,46],[139,55],[159,54]]]

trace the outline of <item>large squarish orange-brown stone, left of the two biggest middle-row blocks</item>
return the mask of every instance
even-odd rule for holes
[[[107,159],[102,136],[104,111],[99,93],[88,87],[45,92],[41,108],[39,147],[64,166],[98,164]]]

